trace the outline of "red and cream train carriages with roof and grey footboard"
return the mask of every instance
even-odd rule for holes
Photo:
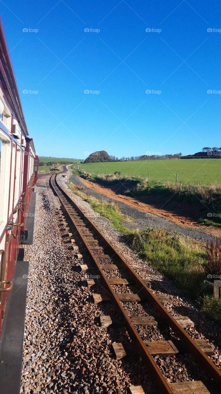
[[[23,260],[19,244],[33,232],[29,207],[34,210],[38,162],[0,21],[0,391],[4,387],[5,393],[20,392],[28,262],[17,258],[20,251]]]

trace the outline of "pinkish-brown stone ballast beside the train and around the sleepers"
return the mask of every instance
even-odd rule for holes
[[[64,184],[64,178],[60,177],[59,182]],[[111,343],[129,341],[129,338],[125,329],[102,329],[98,326],[98,316],[116,312],[111,303],[92,304],[92,292],[103,290],[98,286],[94,289],[86,287],[87,273],[79,272],[78,264],[87,264],[88,255],[78,243],[83,258],[75,258],[61,216],[58,212],[55,214],[55,208],[60,207],[59,200],[48,185],[49,176],[45,175],[35,187],[34,242],[25,246],[25,258],[30,261],[30,268],[21,393],[126,394],[131,384],[142,385],[145,393],[153,392],[147,369],[140,360],[114,360]],[[151,279],[152,290],[169,295],[170,302],[166,307],[171,314],[182,314],[193,320],[195,326],[188,332],[192,338],[205,338],[210,342],[214,349],[211,359],[220,366],[219,325],[204,318],[195,303],[180,298],[173,282],[138,259],[123,242],[122,234],[110,227],[109,220],[95,213],[67,185],[64,187],[74,201],[94,217],[94,223],[114,246],[120,247],[122,254],[131,262],[136,261],[139,275]],[[90,275],[95,274],[95,271],[90,271]],[[136,315],[155,316],[151,307],[144,303],[127,303],[127,308]],[[171,331],[165,325],[140,327],[139,333],[145,340],[171,339]],[[170,382],[204,377],[191,356],[157,356],[155,359]],[[171,366],[177,371],[175,375]]]

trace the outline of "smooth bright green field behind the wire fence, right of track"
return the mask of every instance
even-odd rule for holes
[[[108,162],[79,164],[80,170],[95,175],[113,174],[120,171],[122,175],[131,177],[147,177],[150,180],[183,183],[217,183],[221,182],[221,160],[219,159],[177,159],[177,160],[139,160],[134,162]]]

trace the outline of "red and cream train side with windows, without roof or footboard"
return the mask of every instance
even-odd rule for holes
[[[20,127],[0,80],[0,331],[37,181],[35,160],[33,141]]]

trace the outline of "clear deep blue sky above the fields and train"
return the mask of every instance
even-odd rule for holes
[[[207,93],[221,90],[221,33],[207,32],[221,29],[217,1],[0,4],[39,155],[189,154],[221,146],[221,95]]]

